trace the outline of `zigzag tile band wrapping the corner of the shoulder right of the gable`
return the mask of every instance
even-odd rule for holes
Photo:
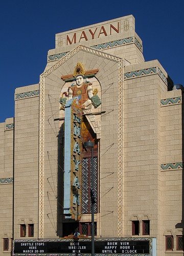
[[[130,78],[136,78],[136,77],[153,75],[153,74],[158,74],[163,79],[163,81],[167,84],[167,78],[165,77],[163,72],[158,67],[127,72],[127,73],[125,73],[124,78],[130,79]]]

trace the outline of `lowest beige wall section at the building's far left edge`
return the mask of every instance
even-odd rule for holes
[[[13,118],[0,124],[0,248],[10,255],[13,225]],[[3,252],[3,239],[9,239],[9,250]]]

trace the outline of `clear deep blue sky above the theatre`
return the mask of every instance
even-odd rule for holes
[[[0,9],[0,122],[14,116],[15,88],[39,82],[56,33],[129,14],[145,60],[158,59],[175,84],[184,84],[183,0],[0,0]]]

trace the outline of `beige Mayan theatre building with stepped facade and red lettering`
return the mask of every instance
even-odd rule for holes
[[[182,86],[144,60],[134,22],[56,34],[39,83],[15,90],[1,255],[90,255],[91,229],[95,254],[183,255]]]

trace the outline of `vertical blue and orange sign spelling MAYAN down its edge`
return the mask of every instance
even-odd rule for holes
[[[65,105],[64,121],[64,215],[81,218],[82,110],[75,98]]]

